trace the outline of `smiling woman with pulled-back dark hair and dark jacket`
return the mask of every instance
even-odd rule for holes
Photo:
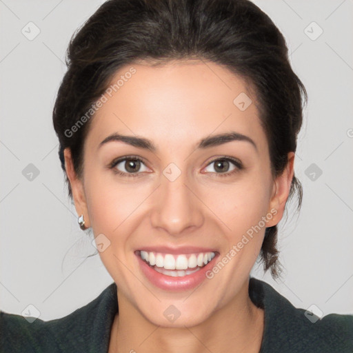
[[[62,319],[1,312],[3,352],[353,352],[353,316],[309,320],[250,279],[259,255],[276,276],[276,225],[300,205],[305,99],[250,1],[104,3],[70,43],[53,121],[114,283]]]

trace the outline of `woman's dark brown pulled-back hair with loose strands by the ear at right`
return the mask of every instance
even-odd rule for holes
[[[83,172],[83,143],[92,119],[87,112],[123,65],[139,60],[165,63],[201,59],[223,65],[245,79],[256,95],[268,138],[272,174],[283,172],[295,152],[307,94],[294,74],[283,35],[248,0],[110,0],[74,34],[53,110],[59,157],[70,148],[74,170]],[[234,97],[235,98],[235,97]],[[84,122],[84,123],[83,123]],[[76,128],[72,129],[72,127]],[[68,177],[65,174],[65,181]],[[302,189],[292,180],[290,197]],[[72,197],[70,183],[68,194]],[[278,270],[277,226],[266,228],[264,269]]]

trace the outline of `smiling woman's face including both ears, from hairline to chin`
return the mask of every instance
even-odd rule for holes
[[[92,118],[83,179],[65,150],[77,212],[121,301],[155,325],[196,325],[242,292],[291,165],[274,179],[256,97],[225,68],[140,63],[119,78]]]

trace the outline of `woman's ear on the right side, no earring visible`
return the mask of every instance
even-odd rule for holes
[[[276,177],[274,185],[272,188],[272,196],[270,200],[270,207],[268,212],[272,210],[274,215],[266,227],[272,227],[281,221],[283,213],[285,210],[285,203],[287,202],[288,196],[290,194],[290,186],[292,185],[292,179],[294,176],[294,152],[288,153],[288,163],[285,166],[282,174]],[[276,213],[273,212],[276,210]]]

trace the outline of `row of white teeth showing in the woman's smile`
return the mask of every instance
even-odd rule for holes
[[[154,266],[154,269],[157,272],[161,272],[159,270],[161,269],[163,270],[163,273],[168,274],[168,276],[185,276],[187,274],[195,272],[196,270],[199,270],[199,268],[209,263],[214,258],[215,255],[214,255],[214,252],[206,252],[206,253],[201,252],[199,254],[190,254],[190,255],[189,254],[180,254],[180,255],[164,254],[163,255],[160,253],[146,252],[141,250],[140,256],[141,256],[141,259],[145,260],[151,266]],[[189,256],[189,258],[187,256]],[[199,268],[197,268],[196,270],[192,270],[190,272],[191,269],[195,269],[197,266],[199,266]]]

